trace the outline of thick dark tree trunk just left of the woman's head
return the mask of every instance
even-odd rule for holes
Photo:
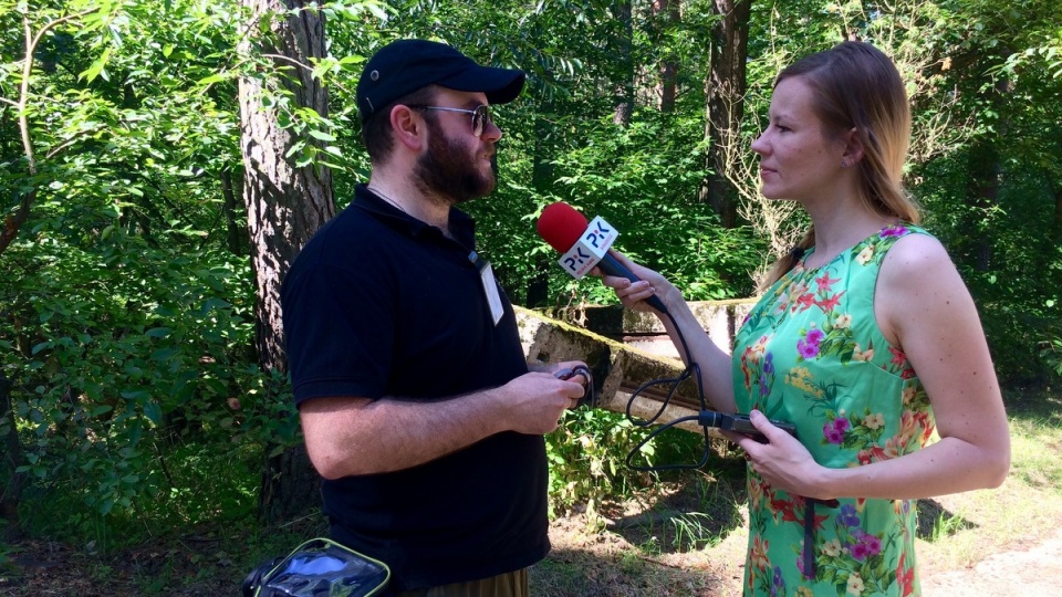
[[[716,13],[721,19],[712,35],[711,74],[705,88],[709,174],[700,189],[700,199],[711,205],[726,228],[733,228],[738,221],[737,196],[726,175],[727,149],[739,142],[745,113],[751,7],[751,0],[716,0]]]

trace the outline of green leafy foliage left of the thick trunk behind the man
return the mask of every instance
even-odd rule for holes
[[[222,192],[238,161],[235,87],[198,83],[229,60],[233,7],[174,3],[170,28],[150,2],[90,7],[7,13],[49,34],[30,78],[18,45],[0,70],[4,100],[28,100],[18,114],[0,104],[0,118],[24,116],[35,149],[0,164],[3,196],[34,199],[2,254],[0,367],[24,461],[0,480],[61,491],[82,532],[156,507],[205,514],[189,496],[210,484],[176,476],[175,459],[296,431],[283,387],[254,365],[253,286],[226,229],[239,220]],[[20,39],[22,23],[4,22]],[[278,408],[288,416],[264,425]]]

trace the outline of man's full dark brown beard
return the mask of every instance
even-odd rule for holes
[[[450,205],[485,197],[494,190],[497,154],[490,156],[490,175],[485,176],[477,167],[479,158],[467,144],[450,139],[438,123],[430,118],[426,121],[431,138],[428,151],[417,159],[414,168],[417,188],[429,197],[448,200]]]

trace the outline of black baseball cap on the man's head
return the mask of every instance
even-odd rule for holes
[[[368,59],[357,82],[362,122],[388,104],[428,85],[482,92],[491,104],[512,102],[523,90],[523,71],[480,66],[454,48],[426,40],[398,40]]]

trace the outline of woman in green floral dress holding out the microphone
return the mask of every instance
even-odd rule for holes
[[[769,440],[731,436],[749,460],[747,595],[917,595],[916,500],[998,486],[1010,468],[988,345],[903,188],[910,114],[889,59],[861,42],[806,56],[779,74],[769,116],[752,144],[762,192],[812,227],[733,356],[656,272],[620,255],[642,280],[603,282],[629,308],[658,296],[712,405]]]

